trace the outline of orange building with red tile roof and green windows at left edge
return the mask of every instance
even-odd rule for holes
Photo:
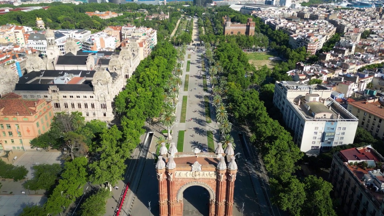
[[[30,141],[49,130],[50,101],[23,99],[15,93],[0,98],[0,150],[30,150]]]

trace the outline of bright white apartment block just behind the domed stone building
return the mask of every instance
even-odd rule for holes
[[[81,43],[81,49],[86,51],[111,51],[116,48],[119,38],[104,32],[95,33]]]

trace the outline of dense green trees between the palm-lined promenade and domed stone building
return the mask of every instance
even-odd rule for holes
[[[61,213],[83,195],[87,181],[96,185],[116,184],[124,178],[127,167],[124,162],[140,143],[145,121],[159,118],[164,109],[167,89],[164,86],[169,80],[178,83],[172,75],[177,56],[172,44],[162,38],[151,55],[140,62],[135,74],[127,80],[125,90],[115,99],[114,109],[121,128],[107,127],[98,120],[85,123],[79,112],[56,113],[50,131],[33,139],[31,145],[45,150],[66,148],[66,162],[62,172],[56,165],[34,167],[34,178],[24,187],[46,189],[48,200],[42,207],[26,207],[22,216]],[[46,176],[41,169],[49,170],[50,175]],[[32,183],[38,184],[32,186]],[[105,214],[104,203],[109,196],[109,190],[95,187],[86,194],[86,201],[80,206],[81,215]]]

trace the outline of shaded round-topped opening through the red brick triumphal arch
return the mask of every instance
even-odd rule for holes
[[[190,186],[183,192],[183,216],[209,216],[210,195],[202,186]]]

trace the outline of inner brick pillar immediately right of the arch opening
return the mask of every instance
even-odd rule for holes
[[[216,200],[215,200],[215,216],[224,216],[225,210],[225,196],[227,194],[227,181],[225,181],[226,170],[216,169],[217,172],[217,187],[216,187]]]

